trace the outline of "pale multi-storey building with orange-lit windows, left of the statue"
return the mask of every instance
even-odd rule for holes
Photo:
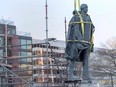
[[[35,56],[33,57],[33,86],[61,87],[66,70],[64,65],[66,60],[63,58],[65,42],[49,38],[46,47],[45,41],[33,40],[32,54]]]

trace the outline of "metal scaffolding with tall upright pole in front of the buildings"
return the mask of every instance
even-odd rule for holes
[[[46,41],[44,43],[19,44],[16,30],[9,31],[8,25],[5,24],[3,35],[5,44],[0,45],[5,54],[0,58],[0,87],[64,87],[64,81],[67,79],[67,61],[64,53],[57,52],[57,47],[52,46],[48,41],[47,0],[45,7]],[[25,46],[32,48],[19,49]],[[36,53],[32,51],[34,48],[37,48]],[[34,54],[18,55],[24,51]],[[24,62],[25,60],[27,62]]]

